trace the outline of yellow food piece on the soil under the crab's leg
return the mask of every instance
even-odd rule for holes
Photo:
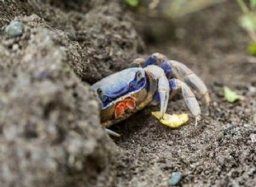
[[[186,113],[182,114],[165,114],[163,119],[160,119],[160,112],[153,111],[151,113],[155,118],[159,119],[160,122],[168,127],[180,127],[184,123],[189,121],[189,115]]]

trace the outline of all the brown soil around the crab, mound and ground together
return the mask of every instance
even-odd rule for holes
[[[121,7],[103,0],[0,2],[0,185],[167,186],[180,172],[182,186],[255,186],[256,64],[247,60],[236,2],[174,21],[174,39],[154,44],[142,42],[131,24],[138,15]],[[21,37],[5,35],[10,20],[24,23]],[[206,82],[210,112],[197,126],[191,117],[171,129],[150,115],[159,107],[148,107],[114,125],[122,136],[112,141],[84,82],[154,52]],[[245,99],[224,101],[223,85]],[[182,111],[180,97],[169,103],[168,113]]]

